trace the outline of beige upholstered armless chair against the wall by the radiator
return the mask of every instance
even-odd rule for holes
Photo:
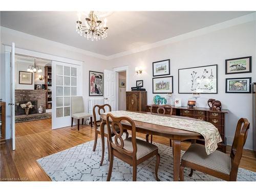
[[[89,118],[91,120],[91,127],[93,126],[93,115],[89,113],[84,112],[84,104],[82,100],[82,96],[75,96],[71,97],[71,126],[73,126],[73,120],[74,118],[77,119],[77,129],[79,131],[79,124],[80,124],[80,119],[82,119],[82,124],[83,124],[83,119],[84,118]]]

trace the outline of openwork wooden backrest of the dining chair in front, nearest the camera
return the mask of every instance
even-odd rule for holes
[[[111,120],[110,120],[111,119]],[[122,123],[128,124],[132,126],[132,145],[133,150],[129,151],[127,150],[127,147],[124,145],[123,142],[123,125]],[[110,124],[111,123],[111,124]],[[137,143],[136,143],[136,126],[134,121],[129,117],[114,117],[112,114],[106,115],[106,124],[108,125],[108,140],[110,141],[110,147],[114,148],[121,154],[125,154],[127,156],[132,157],[133,159],[136,159],[136,153],[137,153]],[[119,127],[120,132],[117,133],[116,129]],[[111,136],[111,129],[113,130],[114,136],[114,142],[112,140]]]

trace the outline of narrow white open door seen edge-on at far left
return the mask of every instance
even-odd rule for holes
[[[12,43],[11,53],[11,138],[12,138],[12,150],[15,150],[15,44]]]

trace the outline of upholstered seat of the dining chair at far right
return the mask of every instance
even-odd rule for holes
[[[229,175],[231,172],[231,158],[229,155],[220,151],[207,155],[205,146],[201,144],[191,144],[181,159],[224,174]]]

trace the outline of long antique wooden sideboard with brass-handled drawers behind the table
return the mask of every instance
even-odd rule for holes
[[[146,111],[150,112],[151,105],[146,105]],[[209,108],[189,108],[188,106],[181,106],[179,108],[173,107],[173,114],[183,117],[191,117],[204,121],[208,121],[216,126],[222,138],[222,143],[218,144],[218,149],[226,153],[226,138],[225,138],[225,114],[228,110],[210,111]],[[157,106],[152,109],[153,113],[157,113]],[[161,112],[161,111],[160,111]],[[170,114],[170,108],[165,108],[165,114]],[[197,140],[197,143],[204,143],[204,140]]]

